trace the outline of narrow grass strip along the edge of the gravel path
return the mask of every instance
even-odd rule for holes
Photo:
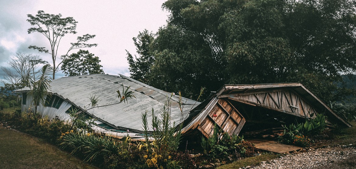
[[[233,162],[231,164],[226,164],[226,165],[221,165],[217,169],[239,169],[241,167],[246,167],[246,166],[251,166],[251,165],[258,165],[260,162],[263,161],[269,161],[272,159],[277,158],[278,155],[276,154],[263,154],[255,157],[250,157],[250,158],[245,158],[236,162]]]

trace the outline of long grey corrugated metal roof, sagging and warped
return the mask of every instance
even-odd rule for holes
[[[116,91],[122,91],[121,84],[125,87],[130,86],[130,90],[134,92],[133,95],[136,99],[129,98],[128,103],[115,104],[120,101]],[[159,116],[161,108],[168,101],[167,97],[171,96],[169,92],[148,86],[123,75],[103,74],[62,77],[52,81],[51,91],[49,92],[62,96],[80,108],[87,109],[89,114],[102,121],[119,128],[136,131],[142,130],[141,113],[147,111],[147,120],[149,126],[151,126],[152,108],[155,110],[155,115]],[[91,108],[89,106],[90,96],[99,99],[99,106],[114,105],[89,109]],[[176,123],[180,121],[182,115],[185,119],[189,111],[200,104],[200,102],[182,98],[183,112],[181,112],[178,101],[179,98],[176,95],[170,101],[171,121]]]

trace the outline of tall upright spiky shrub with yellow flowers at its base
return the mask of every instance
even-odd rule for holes
[[[152,131],[150,131],[148,127],[147,112],[142,113],[142,129],[146,141],[139,144],[138,149],[142,147],[146,148],[147,154],[144,158],[149,168],[178,168],[181,164],[172,160],[171,153],[177,151],[181,140],[180,134],[183,127],[182,96],[179,92],[181,119],[178,125],[176,125],[175,122],[171,123],[170,101],[172,97],[173,93],[170,97],[167,97],[167,101],[163,104],[159,118],[152,109]],[[149,137],[153,138],[152,142],[150,142]]]

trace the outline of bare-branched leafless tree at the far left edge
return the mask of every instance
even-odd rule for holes
[[[41,64],[48,64],[48,62],[43,61],[38,55],[16,53],[7,64],[10,67],[1,66],[1,70],[5,73],[5,80],[1,80],[1,82],[15,84],[22,88],[29,86],[30,78],[36,80],[39,72],[37,68]]]

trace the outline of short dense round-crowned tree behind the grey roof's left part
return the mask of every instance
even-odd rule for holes
[[[89,51],[79,50],[63,59],[62,70],[66,76],[103,74],[98,56]]]

